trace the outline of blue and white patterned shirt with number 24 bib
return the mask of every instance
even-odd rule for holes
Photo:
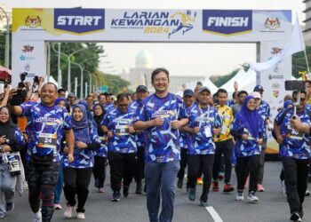
[[[20,105],[22,114],[28,117],[28,152],[30,155],[54,155],[60,161],[62,130],[71,130],[71,117],[58,106],[46,107],[33,101]]]

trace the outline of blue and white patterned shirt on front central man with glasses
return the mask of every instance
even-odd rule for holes
[[[148,163],[168,163],[180,159],[179,130],[171,128],[171,121],[187,118],[183,101],[170,92],[164,98],[156,94],[142,101],[138,121],[151,121],[162,117],[162,126],[153,126],[145,130],[145,161]]]

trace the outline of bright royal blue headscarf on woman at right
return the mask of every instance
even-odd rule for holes
[[[259,138],[259,129],[262,127],[263,119],[261,115],[259,115],[257,108],[251,111],[247,107],[247,103],[250,99],[254,99],[252,96],[247,96],[244,99],[243,105],[241,107],[241,111],[237,116],[240,123],[244,125],[244,127],[251,132],[251,136],[253,138]]]

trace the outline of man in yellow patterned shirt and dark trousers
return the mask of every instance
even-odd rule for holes
[[[219,168],[221,164],[221,157],[223,155],[225,163],[225,186],[223,192],[234,191],[234,186],[230,184],[231,171],[232,171],[232,151],[233,151],[233,140],[230,134],[231,123],[234,120],[231,107],[227,104],[227,91],[224,89],[219,89],[219,108],[218,115],[221,120],[221,131],[219,135],[214,137],[216,150],[214,157],[214,165],[212,168],[212,191],[219,191]]]

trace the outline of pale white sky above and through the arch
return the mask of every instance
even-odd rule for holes
[[[302,0],[1,0],[6,8],[126,8],[126,9],[260,9],[291,10],[293,18],[305,20]],[[280,5],[282,5],[280,7]],[[100,69],[116,70],[135,66],[142,49],[153,55],[154,67],[166,67],[171,75],[226,75],[244,62],[256,60],[255,44],[103,44]],[[126,52],[126,53],[124,53]]]

